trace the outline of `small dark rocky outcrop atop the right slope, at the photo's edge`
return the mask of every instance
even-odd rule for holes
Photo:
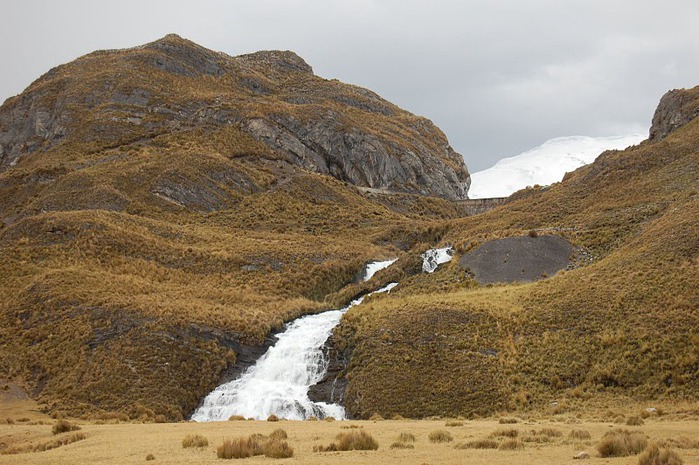
[[[653,115],[649,140],[662,140],[699,116],[697,89],[675,89],[663,95]]]

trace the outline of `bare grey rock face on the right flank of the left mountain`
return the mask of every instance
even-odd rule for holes
[[[444,164],[418,139],[401,141],[399,146],[346,127],[342,115],[331,110],[322,118],[303,121],[292,115],[249,119],[241,129],[291,163],[357,186],[452,200],[467,198],[471,178],[461,156],[446,141],[442,155],[462,169]]]

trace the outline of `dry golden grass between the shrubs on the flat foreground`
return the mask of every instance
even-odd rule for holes
[[[689,407],[689,406],[688,406]],[[643,426],[644,433],[651,440],[665,440],[669,438],[693,437],[695,434],[696,417],[677,420],[679,416],[676,409],[664,421],[651,421]],[[381,445],[376,451],[347,451],[339,453],[317,453],[313,447],[319,443],[328,444],[335,436],[346,431],[343,425],[357,425],[366,429],[371,436]],[[536,447],[527,447],[521,450],[495,449],[457,449],[451,444],[431,443],[427,436],[431,431],[439,429],[444,424],[443,420],[401,420],[401,421],[350,421],[350,422],[285,422],[284,429],[288,433],[287,442],[294,449],[294,460],[309,465],[320,464],[346,464],[349,461],[358,465],[375,463],[401,464],[401,463],[430,463],[435,465],[447,465],[460,462],[489,463],[506,465],[511,463],[528,464],[556,464],[572,463],[574,449],[565,442],[551,442],[537,444]],[[18,455],[0,455],[0,464],[27,464],[49,465],[55,463],[73,463],[76,465],[91,464],[98,460],[124,465],[143,463],[144,457],[152,454],[157,461],[168,463],[201,463],[216,464],[221,460],[216,457],[215,447],[221,445],[226,439],[235,437],[255,436],[268,437],[274,431],[274,426],[266,421],[247,422],[217,422],[217,423],[190,423],[177,424],[91,424],[83,423],[83,431],[87,438],[74,444],[69,444],[50,453],[22,453]],[[459,437],[454,443],[461,442],[462,437],[468,437],[469,441],[486,439],[491,432],[500,428],[497,419],[474,420],[466,423],[459,432]],[[558,421],[538,421],[537,429],[555,428],[568,436],[572,429],[583,428],[589,431],[597,440],[609,430],[608,422],[593,422],[581,420],[576,424],[565,424]],[[391,449],[389,447],[401,432],[413,434],[417,441],[414,449]],[[72,434],[72,433],[71,433]],[[181,440],[188,434],[199,434],[209,439],[211,450],[201,452],[194,448],[183,449]],[[462,436],[463,435],[463,436]],[[0,425],[0,437],[2,442],[7,442],[8,437],[15,438],[13,445],[20,446],[32,437],[34,443],[53,439],[50,428],[46,425]],[[120,447],[115,447],[119,444]],[[386,447],[383,447],[383,445]],[[681,457],[687,461],[690,457],[699,454],[699,449],[679,449]],[[588,449],[589,452],[592,450]],[[633,460],[631,460],[633,459]],[[619,463],[636,463],[636,457],[621,460]],[[263,457],[249,458],[246,463],[262,463]],[[599,459],[593,459],[599,460]]]

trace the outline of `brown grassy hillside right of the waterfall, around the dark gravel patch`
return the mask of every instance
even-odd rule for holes
[[[459,253],[560,234],[584,266],[476,287],[453,260],[352,309],[336,337],[351,353],[353,415],[594,414],[699,398],[699,120],[449,224]]]

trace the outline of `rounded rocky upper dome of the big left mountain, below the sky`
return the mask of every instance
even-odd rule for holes
[[[265,158],[357,186],[467,197],[462,157],[427,119],[319,78],[293,52],[230,57],[175,35],[86,55],[8,99],[0,108],[0,172],[67,144],[147,144],[198,127],[228,128],[264,144]]]

